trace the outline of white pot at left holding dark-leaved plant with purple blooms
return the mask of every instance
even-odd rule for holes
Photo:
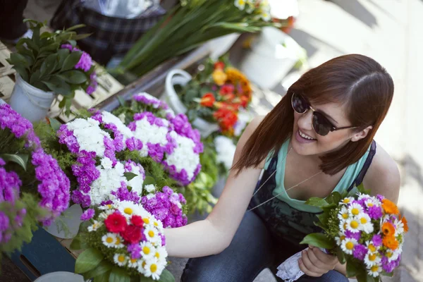
[[[54,92],[45,92],[33,87],[16,74],[16,83],[9,104],[21,116],[33,122],[47,116],[54,97]]]

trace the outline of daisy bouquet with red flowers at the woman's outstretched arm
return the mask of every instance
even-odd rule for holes
[[[85,220],[71,244],[86,249],[76,273],[94,281],[175,281],[165,269],[163,224],[141,204],[115,201],[90,210]]]

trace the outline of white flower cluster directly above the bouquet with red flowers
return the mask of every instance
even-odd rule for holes
[[[108,158],[104,158],[108,159]],[[107,160],[102,159],[102,163],[108,164]],[[92,181],[90,185],[90,191],[87,193],[90,195],[91,204],[97,206],[103,201],[109,200],[111,191],[121,187],[121,182],[125,181],[126,178],[123,176],[125,168],[123,164],[117,163],[113,168],[104,168],[102,165],[97,166],[100,172],[99,178]]]

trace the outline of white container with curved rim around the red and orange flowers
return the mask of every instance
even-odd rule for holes
[[[166,102],[171,107],[171,109],[175,111],[176,114],[186,114],[187,108],[183,102],[180,101],[178,94],[175,91],[174,85],[185,86],[191,79],[192,76],[183,70],[169,71],[168,75],[166,76]],[[209,123],[208,121],[204,121],[202,118],[195,118],[195,121],[192,122],[192,125],[194,125],[194,127],[200,131],[202,137],[207,137],[211,133],[219,130],[219,125],[216,123]]]

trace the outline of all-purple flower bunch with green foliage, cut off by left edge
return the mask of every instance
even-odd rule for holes
[[[0,250],[30,242],[37,223],[49,226],[68,208],[70,183],[46,154],[32,124],[0,105]]]

